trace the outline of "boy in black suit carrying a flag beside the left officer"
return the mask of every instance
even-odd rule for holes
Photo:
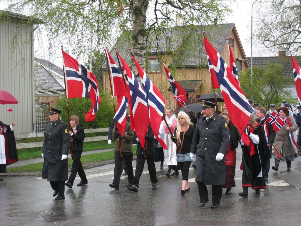
[[[72,129],[69,131],[69,134],[71,136],[71,144],[72,144],[71,157],[73,162],[72,162],[71,174],[69,176],[67,183],[65,184],[69,188],[72,188],[77,173],[81,179],[79,184],[77,184],[77,186],[83,186],[85,184],[88,184],[88,180],[84,168],[82,168],[82,162],[80,161],[80,157],[82,156],[83,142],[85,139],[85,129],[83,127],[80,127],[78,124],[79,124],[78,116],[72,115],[70,117],[70,125],[72,126]]]

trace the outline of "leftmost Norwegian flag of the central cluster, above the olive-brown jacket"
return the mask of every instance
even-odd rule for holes
[[[126,85],[124,84],[123,76],[111,57],[107,47],[105,46],[104,49],[106,51],[111,72],[113,96],[117,96],[117,111],[113,118],[117,121],[117,129],[120,134],[123,134],[126,130],[126,107],[128,106]]]

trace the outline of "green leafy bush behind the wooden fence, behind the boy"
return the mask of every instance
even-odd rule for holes
[[[110,126],[113,120],[114,110],[111,103],[111,97],[107,93],[99,93],[102,98],[99,109],[96,112],[95,120],[92,122],[85,121],[85,114],[92,108],[91,100],[89,98],[72,98],[68,99],[69,102],[69,116],[78,115],[79,125],[88,128],[106,128]],[[67,123],[67,105],[66,98],[58,99],[56,108],[62,111],[61,118]]]

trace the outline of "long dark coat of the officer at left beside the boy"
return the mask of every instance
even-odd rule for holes
[[[48,122],[46,125],[42,178],[50,181],[68,180],[68,159],[61,159],[62,155],[68,155],[70,149],[69,130],[63,121],[57,120],[52,124]]]

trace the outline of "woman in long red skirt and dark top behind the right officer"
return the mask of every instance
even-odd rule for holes
[[[225,118],[230,134],[230,142],[228,145],[226,157],[226,184],[224,187],[227,188],[225,195],[231,194],[232,187],[235,187],[235,165],[236,165],[236,150],[238,146],[239,133],[236,126],[231,122],[229,113],[224,111],[221,116]]]

